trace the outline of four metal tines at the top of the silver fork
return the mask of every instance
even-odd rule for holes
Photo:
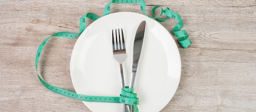
[[[117,36],[118,35],[118,36]],[[121,37],[122,36],[122,37]],[[120,50],[124,49],[124,33],[123,29],[121,29],[121,36],[120,36],[120,31],[118,29],[118,34],[117,34],[117,29],[115,29],[115,33],[112,30],[112,44],[113,44],[113,50]]]

